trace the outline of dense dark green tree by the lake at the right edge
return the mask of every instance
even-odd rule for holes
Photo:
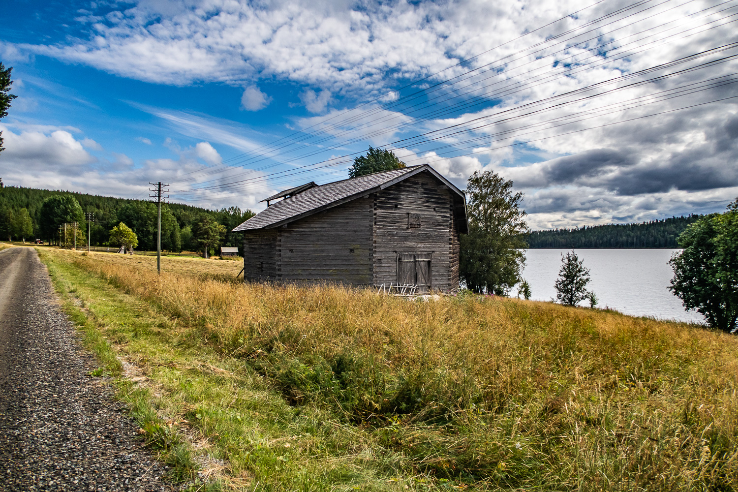
[[[682,252],[669,260],[669,287],[687,309],[720,330],[738,328],[738,199],[723,214],[711,214],[679,236]]]

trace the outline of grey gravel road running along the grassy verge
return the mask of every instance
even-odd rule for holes
[[[31,248],[0,252],[0,491],[171,491]]]

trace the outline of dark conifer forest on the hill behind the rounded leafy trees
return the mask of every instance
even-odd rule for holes
[[[41,204],[52,195],[72,195],[79,202],[83,212],[94,213],[94,221],[90,228],[92,246],[105,246],[110,229],[119,222],[123,222],[136,232],[139,240],[137,249],[148,251],[156,249],[156,204],[149,200],[5,186],[0,188],[0,221],[9,212],[12,217],[21,209],[26,209],[33,226],[32,237],[26,239],[52,239],[42,237],[38,226],[41,222]],[[231,230],[254,215],[251,210],[242,210],[238,207],[210,210],[173,203],[162,204],[162,249],[176,252],[183,249],[199,251],[200,246],[196,243],[196,238],[193,238],[192,229],[193,225],[200,220],[201,215],[209,215],[213,221],[226,227],[227,232],[221,246],[237,246],[239,251],[241,250],[243,247],[241,238],[238,232],[231,232]],[[1,226],[2,224],[0,224],[0,229],[4,229]],[[80,221],[80,229],[84,232],[86,242],[86,222]]]

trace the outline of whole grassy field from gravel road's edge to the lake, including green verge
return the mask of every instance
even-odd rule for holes
[[[99,373],[193,490],[738,488],[736,336],[39,250]]]

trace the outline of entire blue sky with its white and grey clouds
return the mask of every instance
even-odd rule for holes
[[[258,210],[386,145],[460,187],[478,170],[513,179],[534,229],[738,195],[736,1],[10,0],[3,13],[10,185],[144,198],[164,181],[176,201]]]

